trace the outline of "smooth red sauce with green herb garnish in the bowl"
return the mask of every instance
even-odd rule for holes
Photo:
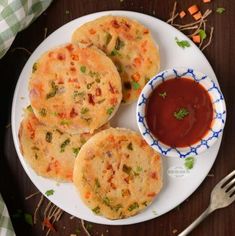
[[[170,79],[155,88],[146,106],[152,134],[171,147],[198,142],[209,131],[213,105],[209,93],[189,78]]]

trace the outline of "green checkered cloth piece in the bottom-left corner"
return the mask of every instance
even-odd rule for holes
[[[0,235],[1,236],[14,236],[15,232],[11,224],[11,219],[8,214],[6,205],[0,194]]]

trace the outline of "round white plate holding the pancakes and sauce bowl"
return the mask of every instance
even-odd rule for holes
[[[54,189],[50,201],[56,204],[71,215],[84,220],[107,225],[126,225],[146,221],[160,216],[188,198],[202,183],[211,169],[221,143],[221,138],[217,143],[204,154],[196,158],[196,163],[192,170],[184,169],[184,160],[177,158],[164,158],[164,186],[151,206],[142,213],[128,219],[111,221],[100,216],[96,216],[80,200],[72,183],[60,183],[40,177],[25,162],[20,153],[18,130],[22,120],[23,108],[29,105],[28,80],[33,63],[45,51],[57,45],[70,41],[73,31],[83,23],[93,20],[103,15],[122,15],[138,20],[146,25],[152,32],[154,39],[160,47],[161,70],[172,67],[191,67],[207,74],[216,83],[216,76],[202,52],[190,41],[189,48],[182,49],[177,46],[175,37],[179,40],[189,40],[184,34],[172,26],[154,17],[128,11],[107,11],[80,17],[62,26],[48,36],[30,56],[19,77],[14,100],[12,104],[12,132],[16,151],[26,173],[36,187],[43,193],[49,189]],[[24,97],[24,99],[22,99]],[[136,104],[121,106],[117,114],[111,121],[116,127],[127,127],[138,131],[136,118]]]

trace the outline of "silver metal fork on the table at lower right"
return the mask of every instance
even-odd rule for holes
[[[231,179],[228,183],[227,181]],[[235,170],[225,176],[212,190],[209,207],[178,236],[188,235],[201,221],[214,210],[226,207],[235,200]]]

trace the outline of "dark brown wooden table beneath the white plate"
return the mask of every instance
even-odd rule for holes
[[[213,13],[209,22],[215,27],[212,44],[205,50],[226,98],[228,116],[222,145],[211,169],[211,176],[206,177],[200,187],[180,207],[154,220],[130,226],[106,226],[92,224],[92,235],[176,235],[188,226],[206,207],[213,186],[226,174],[235,169],[235,3],[229,0],[212,0],[202,4],[202,0],[178,1],[179,9],[187,9],[196,3],[201,9],[224,7],[226,11],[219,15]],[[131,10],[153,15],[167,20],[173,7],[173,0],[55,0],[47,11],[30,27],[19,33],[11,47],[24,47],[33,51],[44,39],[44,29],[48,33],[77,17],[103,10]],[[167,45],[166,45],[167,46]],[[193,56],[193,55],[192,55]],[[35,196],[30,200],[25,197],[36,192],[36,187],[25,174],[15,152],[10,127],[11,103],[19,74],[29,55],[23,50],[9,50],[0,60],[1,72],[1,140],[0,140],[0,191],[11,215],[21,209],[33,213],[39,200]],[[175,186],[177,187],[177,186]],[[172,196],[174,198],[174,196]],[[230,236],[235,234],[235,204],[218,210],[207,218],[191,235]],[[13,218],[17,235],[45,235],[40,223],[30,226]],[[64,213],[56,224],[57,232],[52,235],[70,235],[80,228],[79,219],[70,219]],[[81,230],[80,235],[85,235]]]

